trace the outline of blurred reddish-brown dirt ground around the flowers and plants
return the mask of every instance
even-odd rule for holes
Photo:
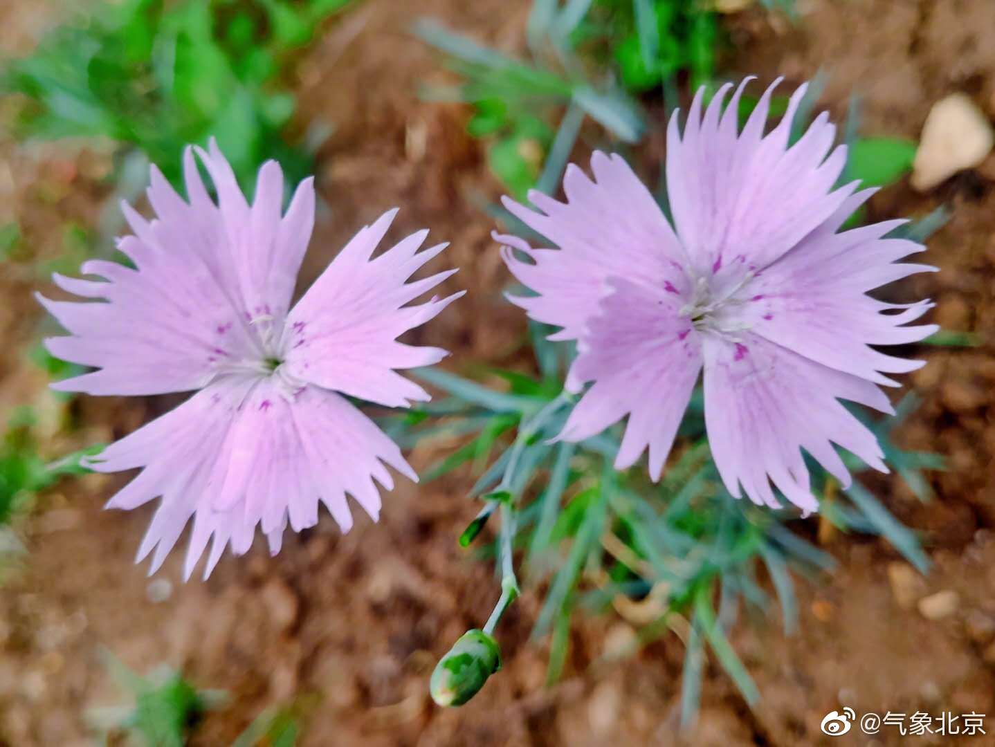
[[[395,233],[429,226],[452,242],[447,262],[462,268],[449,283],[471,293],[422,340],[455,352],[451,365],[500,360],[522,333],[523,318],[503,303],[506,281],[475,206],[499,187],[467,112],[419,100],[420,84],[442,75],[438,58],[408,33],[433,15],[513,51],[524,0],[367,0],[329,29],[298,71],[302,120],[321,116],[335,129],[317,174],[327,208],[305,264],[311,280],[344,239],[382,210],[400,205]],[[965,91],[995,117],[995,3],[990,0],[799,0],[796,26],[756,10],[729,19],[730,74],[797,84],[822,70],[822,103],[842,118],[862,94],[864,131],[915,137],[929,105]],[[44,3],[0,8],[4,52],[23,50],[44,28]],[[30,12],[29,12],[30,9]],[[102,197],[105,155],[67,145],[14,148],[0,142],[0,210],[13,211],[40,258],[62,251],[66,221],[90,224]],[[642,171],[655,178],[647,157]],[[402,484],[386,499],[378,525],[358,520],[346,536],[330,521],[289,536],[271,560],[256,547],[226,558],[207,583],[182,584],[179,555],[151,584],[131,564],[149,512],[100,510],[120,484],[91,475],[44,496],[21,530],[23,567],[0,590],[0,743],[88,744],[87,716],[119,702],[100,662],[108,649],[139,671],[167,662],[202,687],[227,690],[230,703],[210,714],[195,744],[229,744],[265,707],[295,698],[306,708],[304,745],[817,745],[832,740],[819,723],[830,710],[995,711],[995,163],[916,195],[898,185],[875,198],[873,218],[923,215],[943,203],[950,222],[929,242],[927,260],[942,272],[914,281],[937,300],[934,320],[973,332],[974,348],[924,350],[929,364],[908,377],[922,399],[903,427],[902,444],[938,452],[949,469],[930,475],[937,497],[920,503],[899,482],[880,494],[921,530],[934,567],[909,573],[881,541],[824,534],[839,570],[820,583],[799,581],[800,632],[786,637],[776,610],[744,619],[734,637],[762,693],[750,710],[709,664],[695,730],[681,736],[684,649],[671,637],[641,654],[592,664],[625,624],[603,617],[579,624],[564,680],[543,687],[545,650],[527,642],[540,599],[529,592],[502,623],[505,664],[461,709],[428,697],[435,660],[468,627],[479,625],[497,594],[490,567],[455,541],[475,506],[465,475],[420,489]],[[8,216],[0,214],[0,219]],[[0,220],[0,222],[3,222]],[[17,402],[54,413],[43,377],[24,359],[40,314],[30,292],[46,287],[25,266],[0,274],[0,417]],[[90,424],[75,437],[126,433],[161,402],[81,400],[73,415]],[[53,432],[57,429],[52,428]],[[53,455],[68,448],[56,438]],[[424,467],[435,455],[416,453]],[[816,519],[812,520],[813,522]],[[814,523],[813,523],[814,526]],[[944,616],[918,602],[952,592]],[[153,601],[154,600],[154,601]],[[618,635],[617,635],[618,634]],[[987,737],[995,744],[995,717]],[[913,743],[956,743],[915,737]],[[849,740],[849,741],[848,741]],[[944,741],[945,740],[945,741]],[[851,734],[841,743],[871,744]],[[879,736],[874,744],[897,744]]]

